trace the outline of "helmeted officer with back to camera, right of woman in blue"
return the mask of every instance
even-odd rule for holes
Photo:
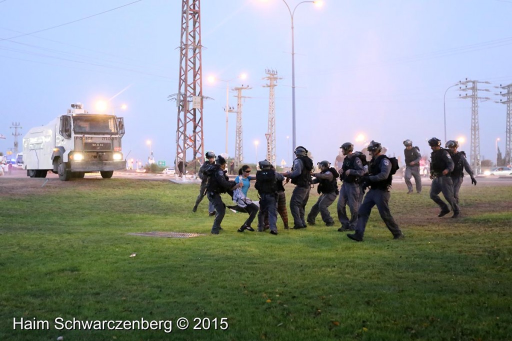
[[[278,181],[283,181],[283,175],[275,172],[272,164],[267,160],[258,162],[260,171],[256,172],[256,183],[254,188],[260,195],[260,212],[258,213],[258,231],[265,231],[265,216],[268,215],[270,233],[278,234],[278,212],[277,212],[277,191]]]

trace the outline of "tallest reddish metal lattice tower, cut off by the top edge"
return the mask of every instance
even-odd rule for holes
[[[193,159],[200,163],[204,161],[200,3],[200,0],[182,0],[181,8],[176,167],[181,165],[182,176],[185,174],[187,152],[191,152]]]

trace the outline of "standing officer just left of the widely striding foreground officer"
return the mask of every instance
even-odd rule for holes
[[[357,224],[357,210],[359,209],[359,196],[362,196],[359,186],[359,179],[365,174],[365,168],[362,165],[359,156],[355,155],[354,145],[345,142],[339,147],[342,150],[345,159],[342,169],[340,169],[339,178],[343,181],[342,188],[339,190],[338,205],[336,207],[338,220],[342,227],[339,232],[354,231]],[[347,203],[350,209],[350,220],[347,217]]]

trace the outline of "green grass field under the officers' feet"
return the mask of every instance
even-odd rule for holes
[[[246,216],[230,211],[212,236],[206,199],[191,212],[196,184],[44,181],[0,179],[0,340],[512,339],[510,185],[464,186],[457,220],[437,218],[430,187],[395,185],[406,239],[374,209],[355,243],[320,217],[238,233]],[[206,236],[128,234],[147,231]],[[127,325],[78,329],[86,321]]]

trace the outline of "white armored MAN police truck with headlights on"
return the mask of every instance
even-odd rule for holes
[[[31,178],[48,171],[62,181],[100,172],[104,179],[126,168],[121,153],[122,117],[89,114],[83,104],[71,104],[66,115],[32,128],[23,138],[23,169]]]

